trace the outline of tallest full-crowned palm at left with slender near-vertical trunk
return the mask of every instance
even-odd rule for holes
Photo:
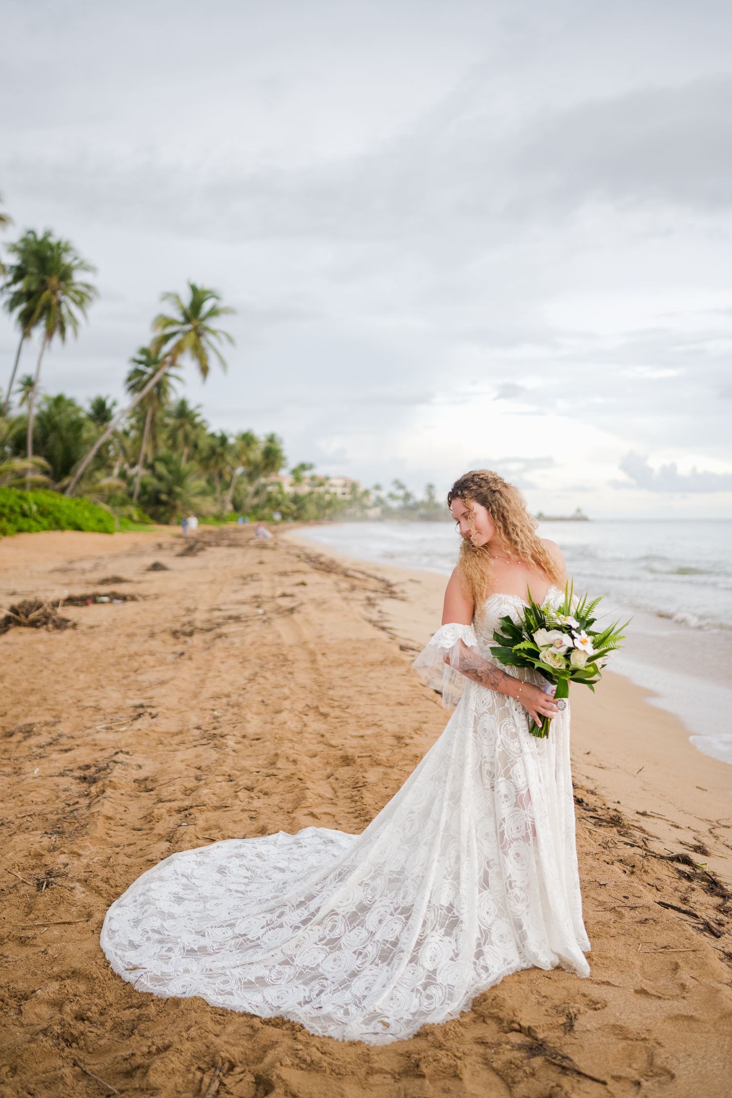
[[[41,363],[46,347],[58,336],[66,343],[66,333],[71,329],[76,336],[79,330],[77,312],[86,317],[87,307],[97,296],[97,289],[91,282],[79,282],[79,271],[93,271],[94,268],[77,254],[68,240],[52,240],[50,246],[37,255],[38,262],[31,266],[23,279],[23,290],[27,294],[26,309],[29,332],[40,324],[43,326],[41,352],[35,368],[33,392],[29,401],[27,415],[27,456],[33,457],[33,413],[35,397],[38,391]]]

